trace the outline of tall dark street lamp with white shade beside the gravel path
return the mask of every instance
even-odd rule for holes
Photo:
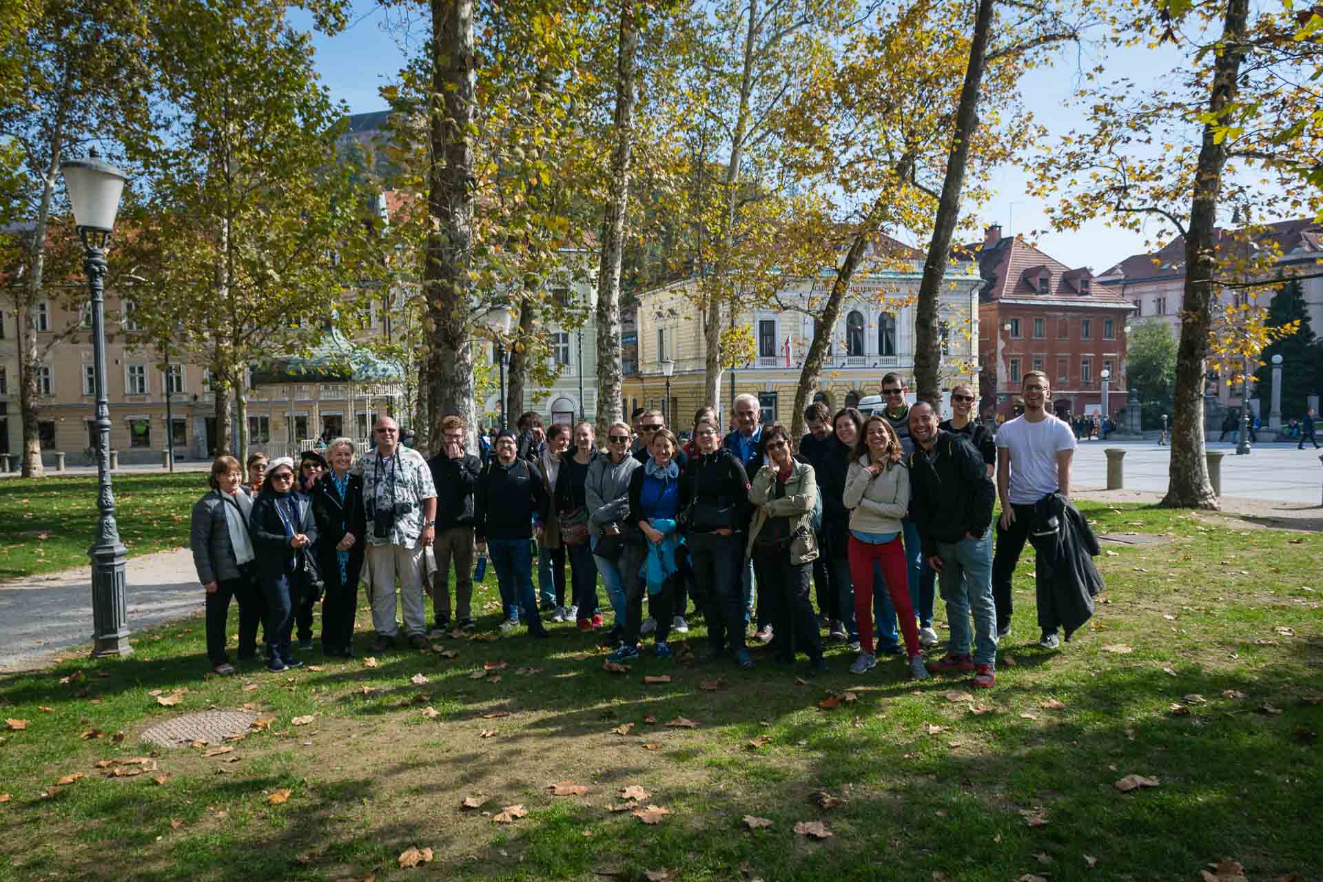
[[[106,250],[115,229],[119,197],[128,177],[89,152],[87,159],[61,163],[60,173],[74,209],[78,238],[86,254],[83,268],[91,294],[93,372],[97,383],[97,508],[101,521],[91,559],[93,656],[127,656],[128,615],[124,607],[124,562],[128,549],[115,524],[115,496],[110,488],[110,402],[106,398]]]

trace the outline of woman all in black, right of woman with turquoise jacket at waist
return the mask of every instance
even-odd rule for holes
[[[710,410],[710,409],[709,409]],[[689,522],[685,543],[693,562],[695,583],[706,587],[708,652],[704,660],[726,652],[744,669],[753,668],[745,645],[745,607],[740,590],[744,551],[741,526],[749,522],[749,476],[734,455],[721,447],[717,423],[703,419],[693,427],[693,456],[684,471],[689,485]]]

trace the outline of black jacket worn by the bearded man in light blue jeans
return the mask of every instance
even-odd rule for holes
[[[938,542],[987,533],[996,485],[983,456],[963,435],[939,428],[930,454],[916,443],[905,461],[910,469],[910,514],[918,525],[923,557],[937,554]]]

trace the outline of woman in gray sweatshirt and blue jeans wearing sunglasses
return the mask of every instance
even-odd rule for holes
[[[615,614],[609,645],[624,639],[624,525],[630,514],[630,476],[643,464],[630,455],[630,424],[617,421],[606,430],[606,452],[598,454],[583,479],[589,545]]]

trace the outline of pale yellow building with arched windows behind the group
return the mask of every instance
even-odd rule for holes
[[[832,346],[823,364],[814,398],[835,413],[857,398],[877,395],[882,377],[896,372],[910,383],[914,376],[914,300],[922,280],[922,255],[909,253],[909,266],[860,276],[851,287],[832,331]],[[722,372],[718,399],[722,424],[732,415],[737,394],[750,393],[762,403],[765,422],[790,424],[804,354],[812,342],[814,311],[826,298],[835,272],[818,279],[790,280],[771,305],[750,305],[736,316],[753,335],[757,356],[751,362]],[[703,312],[695,298],[697,279],[685,279],[644,291],[636,309],[638,370],[624,380],[624,411],[655,407],[667,423],[688,430],[704,401],[705,345]],[[982,279],[972,262],[954,262],[938,304],[945,337],[942,361],[943,417],[950,415],[950,389],[955,382],[978,387],[978,291]],[[729,320],[726,321],[729,324]],[[675,362],[669,398],[663,362]],[[913,389],[910,389],[913,401]],[[673,417],[672,417],[673,414]]]

